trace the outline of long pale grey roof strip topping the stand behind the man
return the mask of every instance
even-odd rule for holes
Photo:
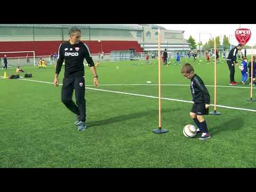
[[[92,29],[116,29],[116,30],[135,30],[142,31],[141,26],[136,24],[0,24],[0,27],[47,27],[47,28],[61,28],[61,27],[81,27]]]

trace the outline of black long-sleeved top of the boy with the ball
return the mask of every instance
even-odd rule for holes
[[[190,79],[190,90],[195,103],[205,102],[210,105],[210,94],[202,79],[196,74]]]

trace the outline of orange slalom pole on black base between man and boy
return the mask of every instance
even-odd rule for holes
[[[159,115],[159,126],[158,129],[154,129],[154,133],[166,133],[168,130],[164,129],[162,130],[161,126],[161,46],[160,46],[160,28],[158,28],[158,104],[159,104],[159,110],[158,110],[158,115]]]

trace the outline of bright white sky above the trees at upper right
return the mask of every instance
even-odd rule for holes
[[[247,28],[251,30],[251,39],[247,45],[251,46],[256,44],[256,24],[156,24],[170,30],[184,30],[184,38],[188,39],[191,35],[196,39],[196,43],[199,43],[199,31],[201,32],[200,41],[205,44],[206,41],[210,39],[210,34],[202,33],[211,33],[213,36],[220,36],[223,39],[224,35],[227,35],[231,39],[232,44],[238,44],[235,31],[241,25],[241,28]]]

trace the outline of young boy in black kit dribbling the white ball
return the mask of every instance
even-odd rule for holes
[[[194,68],[189,63],[182,66],[181,73],[183,76],[190,79],[190,90],[194,101],[190,117],[193,118],[198,126],[196,133],[202,133],[199,138],[200,140],[209,139],[211,138],[211,134],[208,132],[203,115],[209,115],[210,94],[202,79],[195,74]]]

